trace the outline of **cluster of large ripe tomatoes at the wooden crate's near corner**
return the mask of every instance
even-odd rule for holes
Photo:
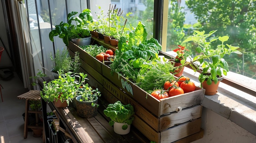
[[[156,99],[163,99],[175,95],[181,95],[195,90],[195,83],[190,81],[189,77],[182,76],[172,82],[164,83],[164,90],[155,90],[151,93]]]

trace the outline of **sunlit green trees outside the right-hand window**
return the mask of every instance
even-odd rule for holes
[[[256,79],[256,1],[187,0],[186,5],[202,24],[202,30],[218,30],[215,36],[227,35],[228,44],[240,47],[243,55],[226,57],[230,70]]]

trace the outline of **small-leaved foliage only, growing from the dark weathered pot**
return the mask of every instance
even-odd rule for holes
[[[80,86],[80,88],[77,89],[77,96],[81,95],[81,99],[79,101],[94,101],[97,99],[97,97],[101,96],[101,92],[96,89],[92,89],[88,84],[84,84],[83,86]],[[92,107],[99,106],[96,103],[92,103]]]

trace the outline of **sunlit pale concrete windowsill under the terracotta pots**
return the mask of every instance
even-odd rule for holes
[[[196,86],[200,86],[199,73],[185,67],[183,74],[190,77]],[[239,77],[236,75],[236,78]],[[218,93],[212,96],[205,95],[202,104],[256,136],[256,97],[220,82]]]

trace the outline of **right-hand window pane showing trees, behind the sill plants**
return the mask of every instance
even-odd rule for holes
[[[215,36],[228,35],[227,44],[239,46],[243,53],[224,57],[229,70],[256,79],[255,17],[255,2],[252,0],[169,0],[166,51],[177,48],[193,34],[193,30],[206,33],[218,30]],[[196,54],[193,43],[182,46],[186,46],[191,55]]]

